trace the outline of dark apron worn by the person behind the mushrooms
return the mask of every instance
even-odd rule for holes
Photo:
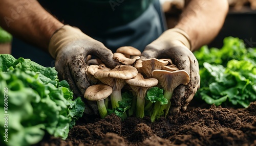
[[[60,21],[78,27],[115,52],[131,45],[143,51],[163,32],[154,0],[41,0]],[[160,6],[159,6],[160,8]]]

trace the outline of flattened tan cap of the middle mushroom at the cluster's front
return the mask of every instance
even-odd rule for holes
[[[144,79],[141,74],[137,74],[132,79],[125,80],[127,84],[138,87],[153,87],[158,84],[158,80],[155,78]]]

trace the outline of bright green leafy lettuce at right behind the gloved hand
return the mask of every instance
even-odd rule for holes
[[[196,98],[208,104],[248,107],[256,100],[256,49],[227,37],[222,48],[204,46],[195,52],[201,84]]]

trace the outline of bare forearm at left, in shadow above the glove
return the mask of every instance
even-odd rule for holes
[[[0,26],[47,51],[52,34],[63,24],[35,0],[1,0]]]

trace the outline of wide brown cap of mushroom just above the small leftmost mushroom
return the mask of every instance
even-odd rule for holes
[[[113,90],[121,90],[126,84],[126,79],[132,79],[138,74],[135,67],[130,65],[118,65],[112,70],[97,71],[94,77],[102,83],[113,87]]]

